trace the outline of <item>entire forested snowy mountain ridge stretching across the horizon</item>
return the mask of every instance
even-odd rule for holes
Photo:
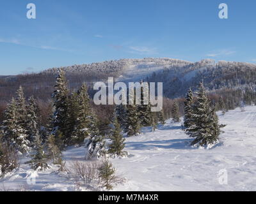
[[[163,82],[164,96],[179,98],[188,88],[196,89],[200,81],[210,92],[223,89],[256,91],[256,64],[245,62],[215,62],[204,59],[188,62],[170,58],[120,59],[61,67],[66,71],[71,89],[77,89],[82,82],[105,81],[114,77],[116,81]],[[26,91],[33,91],[37,98],[48,99],[59,68],[41,73],[0,78],[1,100],[8,101],[13,91],[22,85]],[[6,89],[6,87],[8,87]]]

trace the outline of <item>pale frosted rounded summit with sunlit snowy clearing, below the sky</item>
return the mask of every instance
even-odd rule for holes
[[[191,64],[188,61],[171,58],[144,58],[144,59],[120,59],[115,61],[96,62],[92,64],[80,64],[74,66],[60,67],[67,75],[83,75],[93,80],[115,77],[118,80],[141,80],[154,72],[168,67],[180,67]],[[56,74],[60,68],[51,68],[42,73]]]

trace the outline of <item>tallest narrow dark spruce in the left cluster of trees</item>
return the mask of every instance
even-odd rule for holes
[[[55,135],[58,130],[58,133],[63,135],[64,143],[67,144],[68,140],[70,140],[70,135],[68,135],[68,87],[63,69],[60,69],[56,78],[55,91],[52,94],[52,98],[54,98],[53,106],[55,109],[52,133]]]

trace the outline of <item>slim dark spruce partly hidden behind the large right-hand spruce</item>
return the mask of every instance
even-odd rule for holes
[[[193,124],[193,103],[194,103],[194,97],[193,92],[191,89],[188,90],[188,93],[186,95],[185,101],[184,101],[184,124],[183,128],[187,129]]]

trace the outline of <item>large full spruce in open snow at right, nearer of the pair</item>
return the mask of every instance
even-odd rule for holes
[[[215,110],[211,109],[210,101],[207,98],[204,84],[200,83],[197,101],[193,108],[194,123],[186,132],[195,138],[191,145],[213,145],[218,142],[220,125]]]

